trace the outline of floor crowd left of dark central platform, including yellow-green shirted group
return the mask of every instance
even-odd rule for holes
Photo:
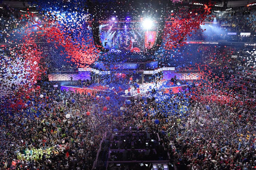
[[[113,119],[97,114],[102,110],[90,95],[57,89],[44,94],[47,100],[33,98],[29,108],[1,114],[1,138],[7,139],[1,141],[1,160],[11,169],[29,169],[32,160],[35,169],[91,169],[100,138]],[[88,116],[84,110],[95,112]],[[67,113],[72,118],[66,119]]]

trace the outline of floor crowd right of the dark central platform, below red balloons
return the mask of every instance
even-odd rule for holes
[[[156,97],[157,100],[147,104],[156,108],[158,113],[155,119],[160,120],[160,126],[153,121],[144,125],[158,129],[161,143],[180,169],[254,169],[255,104],[249,99],[246,101],[249,103],[245,104],[246,96],[232,91],[225,93],[237,98],[231,101],[234,105],[224,104],[228,96],[215,90],[197,91],[195,94],[199,100],[191,102],[189,106],[185,98],[182,100],[182,95],[175,96],[172,102],[159,102]],[[213,102],[205,100],[207,97]],[[214,101],[215,97],[218,101]],[[170,106],[166,106],[167,101]],[[245,102],[243,106],[239,104],[241,101]],[[181,103],[184,103],[183,109]],[[180,112],[177,113],[175,105],[176,108],[178,105]],[[184,105],[189,109],[184,109]],[[175,112],[172,113],[173,110]],[[168,113],[164,114],[166,111]]]

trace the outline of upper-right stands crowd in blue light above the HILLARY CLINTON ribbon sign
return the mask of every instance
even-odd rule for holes
[[[205,23],[202,27],[204,32],[198,31],[189,40],[204,40],[204,41],[231,41],[231,42],[255,42],[255,10],[250,12],[239,11],[236,13],[213,12],[208,15],[205,22],[216,22],[215,24]],[[251,33],[251,36],[240,36],[240,32]],[[228,35],[228,33],[236,33]]]

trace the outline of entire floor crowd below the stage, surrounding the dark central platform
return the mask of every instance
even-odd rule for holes
[[[47,86],[28,108],[1,114],[2,169],[91,169],[106,129],[130,126],[158,132],[177,166],[256,166],[255,96],[204,86],[177,94],[148,92],[127,104],[114,94]]]

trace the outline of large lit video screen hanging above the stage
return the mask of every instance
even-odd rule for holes
[[[156,41],[155,25],[145,29],[140,21],[105,21],[99,25],[100,41],[110,52],[145,52]]]

